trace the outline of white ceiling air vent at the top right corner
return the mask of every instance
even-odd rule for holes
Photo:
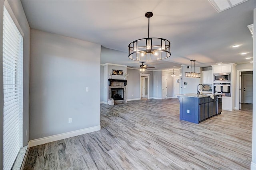
[[[209,0],[217,12],[222,12],[247,0]]]

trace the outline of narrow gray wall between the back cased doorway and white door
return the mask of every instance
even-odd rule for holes
[[[153,72],[153,97],[162,98],[162,71]]]

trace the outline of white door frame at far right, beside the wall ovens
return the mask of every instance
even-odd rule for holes
[[[251,69],[241,69],[241,70],[236,70],[236,110],[241,109],[241,72],[244,71],[252,71],[253,74],[253,68]],[[233,87],[232,87],[233,88]]]

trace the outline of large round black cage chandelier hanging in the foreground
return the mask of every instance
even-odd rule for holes
[[[135,40],[128,45],[129,58],[135,61],[157,61],[170,57],[170,41],[149,37],[149,18],[153,13],[147,12],[145,16],[148,18],[148,38]]]

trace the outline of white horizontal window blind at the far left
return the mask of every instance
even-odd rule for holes
[[[4,170],[10,170],[22,147],[23,37],[4,7]]]

